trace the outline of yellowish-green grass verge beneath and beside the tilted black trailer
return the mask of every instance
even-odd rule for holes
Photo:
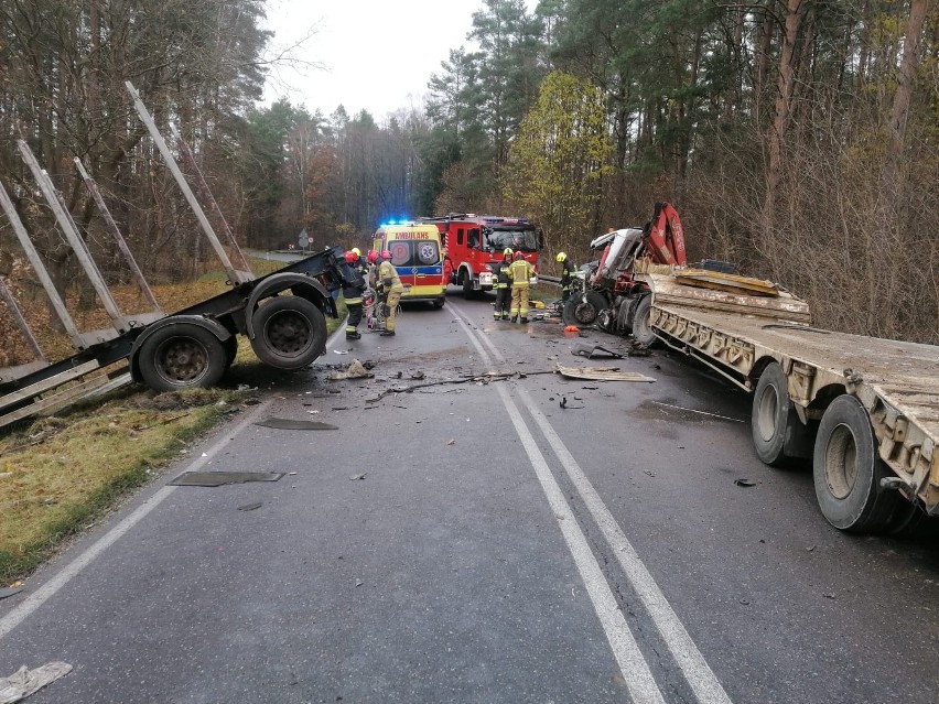
[[[280,266],[251,260],[258,274]],[[224,274],[205,274],[175,290],[160,286],[158,297],[172,302],[165,310],[181,310],[216,295],[224,282]],[[326,318],[330,335],[345,314],[342,299],[338,310],[339,318]],[[0,434],[0,585],[26,578],[71,535],[184,456],[188,443],[255,402],[261,381],[283,373],[239,337],[227,388],[158,394],[134,385]]]

